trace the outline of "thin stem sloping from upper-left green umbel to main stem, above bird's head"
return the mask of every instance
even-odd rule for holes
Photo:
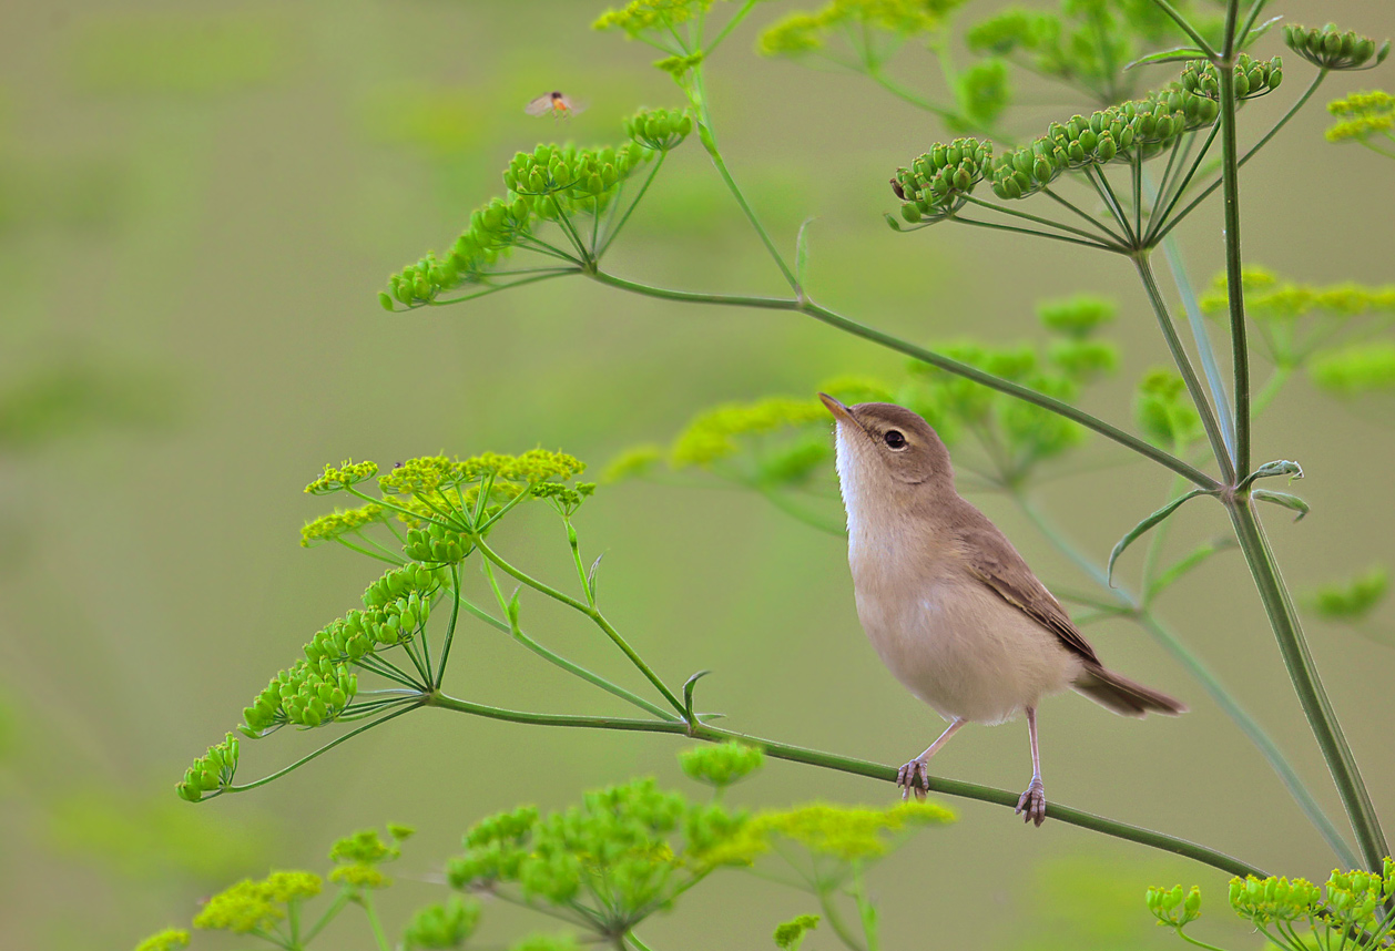
[[[1187,481],[1194,482],[1207,489],[1221,488],[1221,482],[1212,477],[1202,473],[1196,466],[1191,466],[1176,456],[1158,449],[1149,442],[1140,439],[1138,436],[1124,432],[1123,429],[1099,420],[1089,413],[1076,409],[1070,403],[1064,403],[1045,393],[1038,393],[1036,390],[1021,386],[1011,381],[995,376],[992,374],[983,372],[976,367],[960,363],[958,360],[951,360],[933,350],[926,350],[925,347],[918,347],[908,340],[903,340],[890,333],[884,333],[875,328],[859,324],[848,317],[843,317],[836,311],[826,307],[815,304],[810,300],[799,300],[794,297],[741,297],[728,294],[703,294],[686,290],[671,290],[667,287],[653,287],[649,284],[642,284],[633,280],[626,280],[624,277],[617,277],[615,275],[607,273],[604,271],[597,271],[589,275],[591,280],[597,280],[603,284],[611,287],[618,287],[621,290],[628,290],[636,294],[644,294],[646,297],[658,297],[661,300],[682,301],[688,304],[718,304],[727,307],[753,307],[760,310],[774,310],[774,311],[795,311],[799,314],[806,314],[822,324],[827,324],[831,328],[843,330],[844,333],[851,333],[852,336],[862,337],[864,340],[870,340],[882,347],[903,353],[908,357],[914,357],[921,363],[928,363],[932,367],[937,367],[946,372],[954,374],[957,376],[964,376],[972,379],[976,383],[995,389],[1000,393],[1007,393],[1020,400],[1031,403],[1032,406],[1039,406],[1043,410],[1063,416],[1067,420],[1073,420],[1087,429],[1092,429],[1102,436],[1106,436],[1129,449],[1133,449],[1141,456],[1147,456],[1161,466],[1177,473],[1187,478]]]

